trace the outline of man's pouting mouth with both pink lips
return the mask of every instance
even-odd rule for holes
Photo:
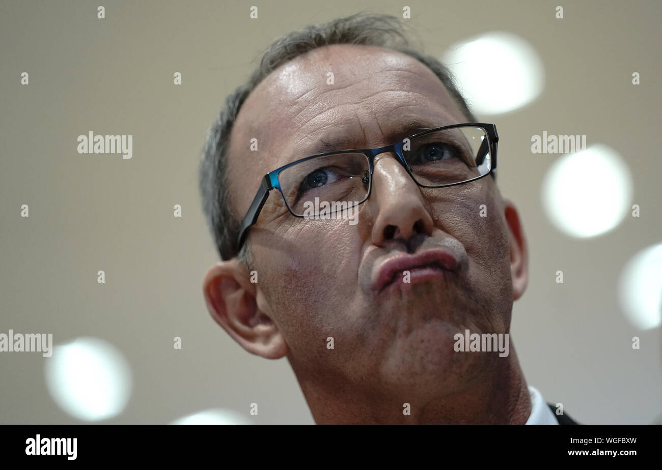
[[[373,270],[372,288],[383,292],[395,284],[414,284],[444,276],[457,270],[457,258],[442,248],[429,249],[416,255],[394,255]]]

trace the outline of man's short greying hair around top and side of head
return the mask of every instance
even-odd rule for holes
[[[395,50],[417,59],[432,70],[470,122],[477,122],[467,102],[455,88],[448,68],[436,58],[412,49],[410,41],[402,32],[404,28],[405,24],[396,17],[373,13],[357,13],[324,24],[311,24],[277,38],[263,53],[260,64],[250,75],[248,82],[240,85],[226,98],[225,107],[220,111],[207,134],[199,169],[203,212],[207,217],[216,251],[222,260],[239,256],[250,266],[248,242],[244,244],[242,253],[236,253],[240,217],[243,215],[234,214],[230,206],[232,195],[228,194],[226,184],[232,127],[248,95],[271,71],[283,63],[316,48],[332,44],[358,44]]]

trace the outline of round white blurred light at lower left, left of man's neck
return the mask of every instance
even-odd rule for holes
[[[131,372],[122,353],[99,338],[56,344],[44,366],[46,387],[56,403],[81,420],[116,416],[128,403]]]

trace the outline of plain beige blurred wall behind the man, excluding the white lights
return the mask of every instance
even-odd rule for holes
[[[97,19],[99,4],[106,19]],[[199,208],[199,151],[226,95],[276,36],[357,11],[399,16],[403,3],[269,1],[251,20],[255,4],[0,1],[0,333],[115,344],[133,388],[124,412],[102,422],[166,423],[215,407],[248,416],[252,402],[260,404],[254,422],[312,422],[289,364],[248,354],[205,309],[201,280],[216,255]],[[557,4],[405,3],[428,54],[490,30],[518,34],[540,54],[540,98],[486,118],[501,137],[500,186],[530,243],[530,284],[515,304],[512,338],[528,382],[573,418],[649,423],[662,413],[661,333],[626,320],[615,286],[632,255],[662,241],[662,3],[561,2],[563,20]],[[77,153],[77,136],[90,130],[132,134],[132,159]],[[592,239],[557,231],[540,198],[557,156],[530,151],[544,130],[616,149],[641,217]],[[559,269],[564,284],[554,281]],[[0,353],[0,422],[81,422],[48,394],[46,360]]]

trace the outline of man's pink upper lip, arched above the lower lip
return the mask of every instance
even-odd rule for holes
[[[457,269],[458,262],[453,253],[442,247],[427,249],[415,255],[409,255],[408,253],[393,255],[383,262],[375,264],[372,288],[379,292],[391,283],[398,272],[430,265],[454,271]]]

